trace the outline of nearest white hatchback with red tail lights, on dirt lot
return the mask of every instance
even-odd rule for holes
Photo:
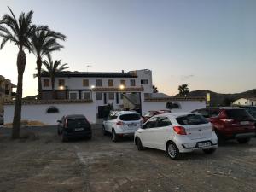
[[[148,119],[134,135],[138,150],[144,147],[165,150],[176,160],[181,153],[202,149],[212,154],[218,138],[212,124],[197,113],[164,113]]]

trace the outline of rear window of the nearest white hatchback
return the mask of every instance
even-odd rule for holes
[[[207,119],[198,114],[189,114],[187,116],[178,117],[176,120],[179,125],[201,125],[208,123]]]

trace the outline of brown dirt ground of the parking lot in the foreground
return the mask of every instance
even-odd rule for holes
[[[27,128],[13,141],[0,128],[0,191],[256,191],[256,138],[175,161],[137,151],[130,138],[113,143],[99,125],[93,132],[91,141],[61,143],[55,127]]]

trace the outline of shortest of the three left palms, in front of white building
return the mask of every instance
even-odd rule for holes
[[[61,64],[61,60],[55,60],[53,61],[51,58],[51,55],[47,55],[47,60],[43,61],[44,67],[46,70],[42,70],[43,73],[49,73],[49,77],[51,80],[51,89],[52,89],[52,98],[55,99],[55,74],[59,72],[63,72],[66,70],[67,63]]]

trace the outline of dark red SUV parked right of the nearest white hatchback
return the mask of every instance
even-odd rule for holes
[[[218,136],[218,143],[235,138],[247,143],[255,136],[253,117],[243,108],[201,108],[193,111],[207,118]]]

